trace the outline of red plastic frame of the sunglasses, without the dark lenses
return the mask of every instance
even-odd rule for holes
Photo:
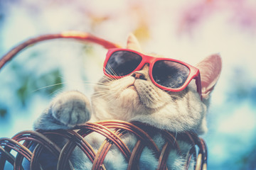
[[[114,76],[114,75],[108,74],[107,71],[106,71],[107,62],[108,62],[108,60],[110,60],[111,55],[114,52],[117,52],[117,51],[134,52],[135,54],[142,57],[142,61],[139,63],[139,65],[137,66],[136,69],[134,69],[131,73],[129,73],[125,76]],[[188,78],[186,79],[184,84],[181,87],[177,88],[177,89],[171,89],[171,88],[168,88],[166,86],[161,86],[160,84],[157,84],[156,81],[154,80],[153,74],[152,74],[154,64],[157,61],[177,62],[179,64],[183,64],[184,66],[188,67],[190,72],[189,72]],[[149,77],[150,77],[151,81],[153,82],[154,85],[158,86],[160,89],[163,89],[164,91],[173,91],[173,92],[183,91],[183,89],[185,89],[186,86],[188,86],[188,84],[191,82],[192,79],[196,79],[197,91],[198,91],[198,94],[201,96],[201,77],[200,77],[199,69],[197,69],[196,67],[191,66],[190,64],[187,64],[186,62],[181,62],[179,60],[175,60],[175,59],[171,59],[171,58],[152,57],[152,56],[144,55],[140,52],[125,49],[125,48],[111,48],[107,51],[107,55],[106,55],[105,62],[104,62],[104,65],[103,65],[103,72],[107,77],[110,77],[112,79],[120,79],[122,77],[127,77],[127,76],[131,75],[132,73],[141,70],[144,67],[145,64],[149,64]],[[202,96],[201,96],[201,99],[202,99]]]

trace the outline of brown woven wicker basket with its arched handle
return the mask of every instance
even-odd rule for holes
[[[33,45],[44,40],[51,40],[56,38],[68,38],[79,40],[80,42],[94,42],[102,45],[105,48],[120,47],[117,44],[97,38],[88,33],[80,32],[63,32],[52,35],[41,35],[36,38],[31,38],[17,45],[12,50],[6,53],[0,60],[0,69],[9,62],[18,52],[21,52],[25,47]],[[95,152],[90,144],[85,141],[84,137],[92,132],[99,133],[105,137],[100,149]],[[122,136],[127,132],[137,136],[138,141],[133,150],[129,150],[127,145],[122,141]],[[151,139],[152,132],[161,133],[166,139],[166,144],[160,150],[154,141]],[[63,148],[59,148],[53,141],[50,141],[48,135],[60,135],[67,139],[67,143]],[[167,169],[166,161],[171,149],[179,150],[177,140],[183,140],[190,143],[193,147],[186,155],[186,164],[184,169],[188,169],[191,159],[195,159],[195,167],[198,169],[207,169],[207,152],[206,143],[197,135],[193,133],[173,134],[165,130],[158,130],[149,125],[142,123],[127,123],[117,120],[106,120],[98,123],[87,123],[77,127],[76,130],[50,130],[50,131],[23,131],[19,132],[14,137],[0,138],[0,170],[4,170],[6,162],[14,166],[14,169],[23,169],[23,159],[30,162],[31,169],[42,169],[38,157],[40,157],[42,149],[48,149],[56,158],[58,158],[57,169],[73,169],[69,162],[70,155],[76,146],[82,149],[82,152],[92,162],[92,169],[105,169],[103,164],[107,152],[112,145],[115,145],[119,151],[124,155],[128,162],[127,169],[139,169],[138,162],[144,147],[149,147],[154,151],[156,159],[159,161],[158,169]],[[31,152],[32,145],[36,148]]]

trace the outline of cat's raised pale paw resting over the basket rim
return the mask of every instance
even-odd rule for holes
[[[60,123],[80,125],[90,120],[90,101],[78,91],[68,91],[53,100],[51,112]]]

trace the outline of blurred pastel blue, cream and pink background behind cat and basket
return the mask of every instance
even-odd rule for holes
[[[208,169],[256,169],[256,1],[0,0],[0,56],[28,38],[80,30],[144,52],[196,64],[220,53],[223,70],[208,114]],[[60,91],[87,96],[102,76],[105,50],[50,40],[0,70],[0,137],[31,130]]]

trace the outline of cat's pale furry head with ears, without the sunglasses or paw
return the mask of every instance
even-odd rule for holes
[[[127,49],[142,52],[137,38],[129,35]],[[154,57],[160,55],[149,54]],[[210,55],[196,66],[201,72],[202,98],[191,83],[179,92],[159,89],[149,78],[149,65],[121,79],[102,77],[92,96],[94,120],[139,121],[172,132],[207,131],[210,93],[221,70],[219,55]]]

